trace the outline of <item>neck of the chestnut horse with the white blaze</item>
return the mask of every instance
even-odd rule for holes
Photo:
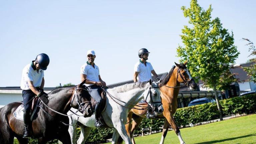
[[[175,88],[168,88],[166,86],[160,87],[161,96],[164,96],[165,98],[171,101],[173,99],[177,99],[179,90],[180,90],[179,88],[180,82],[178,82],[177,80],[177,73],[178,73],[178,70],[177,70],[177,67],[175,67],[172,75],[170,76],[170,79],[166,83],[166,86],[175,87]]]

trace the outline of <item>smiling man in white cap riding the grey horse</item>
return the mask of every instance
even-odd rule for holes
[[[90,95],[97,102],[95,106],[95,126],[102,127],[102,123],[99,121],[103,101],[101,98],[101,86],[106,86],[106,83],[101,79],[99,67],[94,63],[96,58],[95,52],[88,50],[86,55],[88,61],[81,67],[81,78],[82,81],[86,79],[85,85],[90,88]]]

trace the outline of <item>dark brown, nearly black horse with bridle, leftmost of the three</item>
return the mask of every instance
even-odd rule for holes
[[[41,103],[38,116],[32,121],[31,130],[33,138],[44,144],[50,140],[58,139],[63,144],[71,144],[68,133],[69,119],[65,115],[71,107],[80,109],[84,117],[92,115],[91,96],[83,84],[76,87],[63,87],[51,91],[49,103]],[[13,113],[22,102],[13,102],[0,109],[0,143],[12,144],[16,137],[21,144],[28,143],[23,138],[24,123],[17,120]],[[52,109],[52,110],[51,110]],[[55,111],[54,111],[55,110]],[[60,114],[61,113],[61,114]]]

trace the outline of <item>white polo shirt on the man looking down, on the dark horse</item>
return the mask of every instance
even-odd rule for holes
[[[44,77],[44,71],[39,70],[37,72],[35,66],[33,66],[33,61],[31,64],[26,65],[22,70],[20,88],[22,90],[29,90],[28,81],[33,81],[34,87],[40,87]]]

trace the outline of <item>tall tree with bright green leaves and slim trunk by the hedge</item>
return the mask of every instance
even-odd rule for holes
[[[217,86],[221,84],[221,76],[239,55],[234,45],[233,32],[230,34],[222,28],[218,17],[211,20],[211,5],[205,11],[197,0],[191,0],[190,8],[183,6],[181,9],[184,16],[189,18],[190,26],[182,29],[180,36],[184,46],[178,46],[177,54],[182,59],[189,59],[187,66],[193,77],[213,88],[222,120]]]

